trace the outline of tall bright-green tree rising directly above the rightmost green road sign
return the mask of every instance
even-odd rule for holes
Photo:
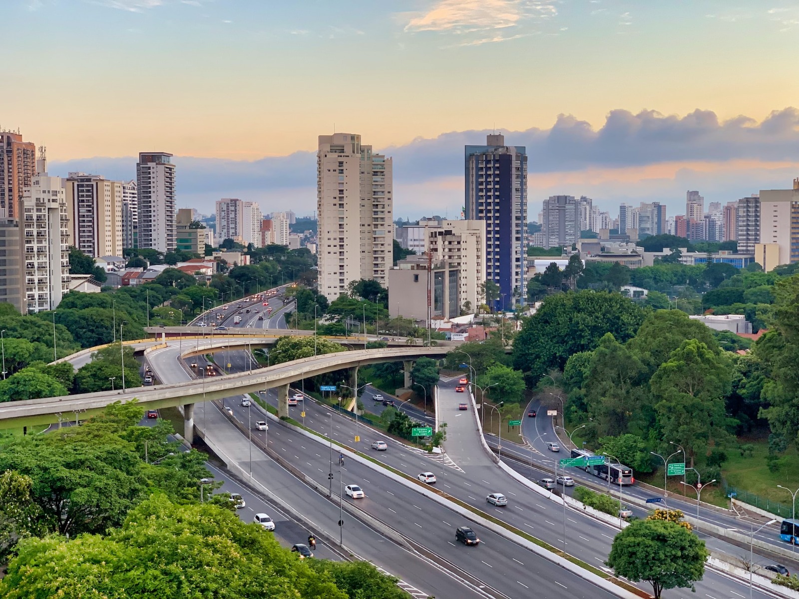
[[[726,360],[705,343],[688,339],[671,352],[650,381],[662,438],[681,444],[690,465],[700,452],[723,445],[730,422],[724,397],[731,376]]]

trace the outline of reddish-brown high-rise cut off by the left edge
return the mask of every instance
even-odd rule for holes
[[[36,146],[19,133],[0,130],[0,218],[19,218],[19,200],[35,174]]]

